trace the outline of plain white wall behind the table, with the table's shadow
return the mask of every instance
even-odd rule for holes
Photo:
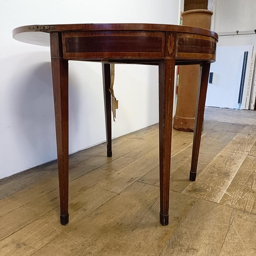
[[[32,24],[179,23],[177,0],[0,1],[0,178],[56,159],[48,48],[14,40]],[[116,65],[113,137],[158,122],[158,68]],[[70,153],[105,140],[100,63],[70,61]]]

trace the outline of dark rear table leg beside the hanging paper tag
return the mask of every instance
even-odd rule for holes
[[[111,132],[111,70],[109,63],[102,63],[103,94],[105,106],[106,125],[106,156],[112,157],[112,132]]]

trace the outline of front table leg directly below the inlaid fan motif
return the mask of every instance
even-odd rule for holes
[[[160,223],[168,225],[175,60],[159,61]]]

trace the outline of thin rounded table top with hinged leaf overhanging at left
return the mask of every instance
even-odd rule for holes
[[[195,33],[215,38],[218,34],[201,28],[167,25],[167,24],[59,24],[59,25],[28,25],[15,28],[13,38],[32,45],[50,46],[49,33],[71,31],[152,31],[152,32],[184,32]],[[42,33],[43,32],[43,33]]]

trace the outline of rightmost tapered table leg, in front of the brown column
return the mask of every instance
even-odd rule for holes
[[[197,108],[196,108],[196,119],[195,119],[195,132],[193,140],[192,160],[191,169],[189,174],[189,180],[195,181],[197,176],[197,163],[201,141],[201,134],[203,128],[204,108],[208,86],[208,77],[210,71],[210,64],[203,63],[200,67],[201,79],[199,79],[199,88],[197,95]],[[199,75],[199,76],[200,76]]]

